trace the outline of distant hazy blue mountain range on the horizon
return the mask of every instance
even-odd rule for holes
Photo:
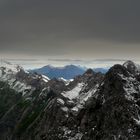
[[[64,78],[64,79],[73,79],[75,76],[82,75],[88,68],[76,66],[76,65],[67,65],[64,67],[54,67],[51,65],[44,66],[39,69],[29,70],[30,72],[37,72],[52,78]],[[108,69],[96,68],[93,69],[96,72],[106,73]]]

